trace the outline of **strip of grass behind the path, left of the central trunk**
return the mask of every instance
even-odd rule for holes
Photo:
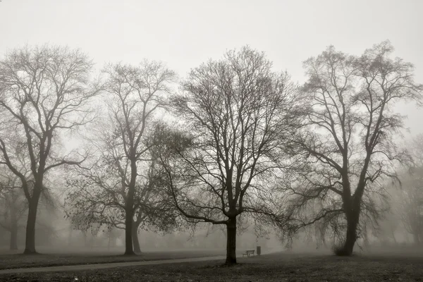
[[[225,255],[224,250],[175,250],[160,252],[143,252],[141,255],[125,257],[122,252],[99,252],[61,250],[56,253],[41,255],[6,254],[0,255],[0,269],[23,267],[62,266],[73,264],[102,264],[107,262],[139,262],[160,259],[185,259],[190,257],[213,257]],[[1,281],[1,279],[0,279]]]

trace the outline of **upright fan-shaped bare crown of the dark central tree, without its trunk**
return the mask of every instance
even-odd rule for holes
[[[276,75],[270,67],[264,54],[252,49],[229,51],[223,61],[192,70],[183,83],[187,94],[174,100],[200,150],[190,156],[198,164],[192,164],[192,173],[220,198],[213,207],[225,215],[249,209],[243,198],[257,184],[253,178],[282,166],[274,153],[288,128],[293,86],[286,74]]]

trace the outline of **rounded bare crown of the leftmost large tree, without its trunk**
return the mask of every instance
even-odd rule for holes
[[[90,71],[91,61],[79,50],[47,46],[16,49],[1,62],[1,80],[9,93],[1,104],[15,118],[25,118],[36,135],[83,124],[87,113],[81,115],[80,106],[94,94],[87,89]]]

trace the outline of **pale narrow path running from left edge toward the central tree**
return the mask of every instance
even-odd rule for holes
[[[113,267],[151,265],[151,264],[174,264],[178,262],[203,262],[207,260],[225,259],[226,257],[193,257],[191,259],[162,259],[144,262],[111,262],[106,264],[79,264],[64,266],[27,267],[23,269],[1,269],[0,274],[23,274],[32,272],[58,272],[58,271],[84,271],[91,269],[109,269]]]

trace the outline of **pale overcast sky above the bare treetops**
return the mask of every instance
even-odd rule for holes
[[[67,44],[105,62],[156,59],[185,74],[249,44],[275,70],[304,80],[302,61],[333,44],[361,54],[385,39],[423,82],[423,0],[140,1],[2,0],[0,54],[25,44]],[[399,106],[412,133],[423,109]]]

